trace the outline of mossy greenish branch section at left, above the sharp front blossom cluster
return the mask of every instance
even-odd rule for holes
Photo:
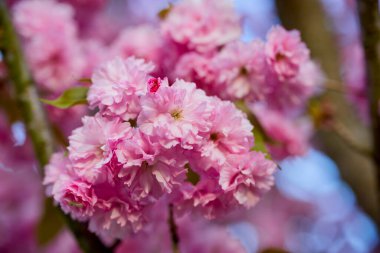
[[[49,161],[54,142],[44,111],[38,100],[37,90],[32,85],[32,78],[23,60],[20,45],[4,1],[0,3],[0,22],[3,32],[4,61],[7,65],[8,75],[14,85],[16,102],[32,140],[35,155],[40,165],[40,172],[43,175],[42,169]]]

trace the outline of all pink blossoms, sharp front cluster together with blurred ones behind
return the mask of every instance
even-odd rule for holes
[[[277,166],[253,151],[253,127],[271,140],[276,160],[308,147],[304,110],[323,77],[299,33],[275,26],[265,41],[242,42],[229,0],[179,1],[158,24],[126,28],[107,23],[105,3],[30,0],[14,8],[45,97],[93,73],[89,108],[49,108],[66,134],[87,109],[94,113],[46,167],[48,194],[109,243],[145,229],[158,203],[209,219],[254,206]]]

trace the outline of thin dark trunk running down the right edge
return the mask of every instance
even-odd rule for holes
[[[380,205],[380,14],[378,0],[357,0],[364,47],[368,99],[371,114],[373,161],[376,166]]]

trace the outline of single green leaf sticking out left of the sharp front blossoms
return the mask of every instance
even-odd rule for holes
[[[87,104],[88,87],[80,86],[65,90],[60,97],[54,100],[40,99],[43,103],[60,109],[67,109],[74,105]]]

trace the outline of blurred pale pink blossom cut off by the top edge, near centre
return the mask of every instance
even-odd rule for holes
[[[184,0],[162,23],[166,36],[190,50],[205,52],[239,38],[239,17],[229,0]]]

